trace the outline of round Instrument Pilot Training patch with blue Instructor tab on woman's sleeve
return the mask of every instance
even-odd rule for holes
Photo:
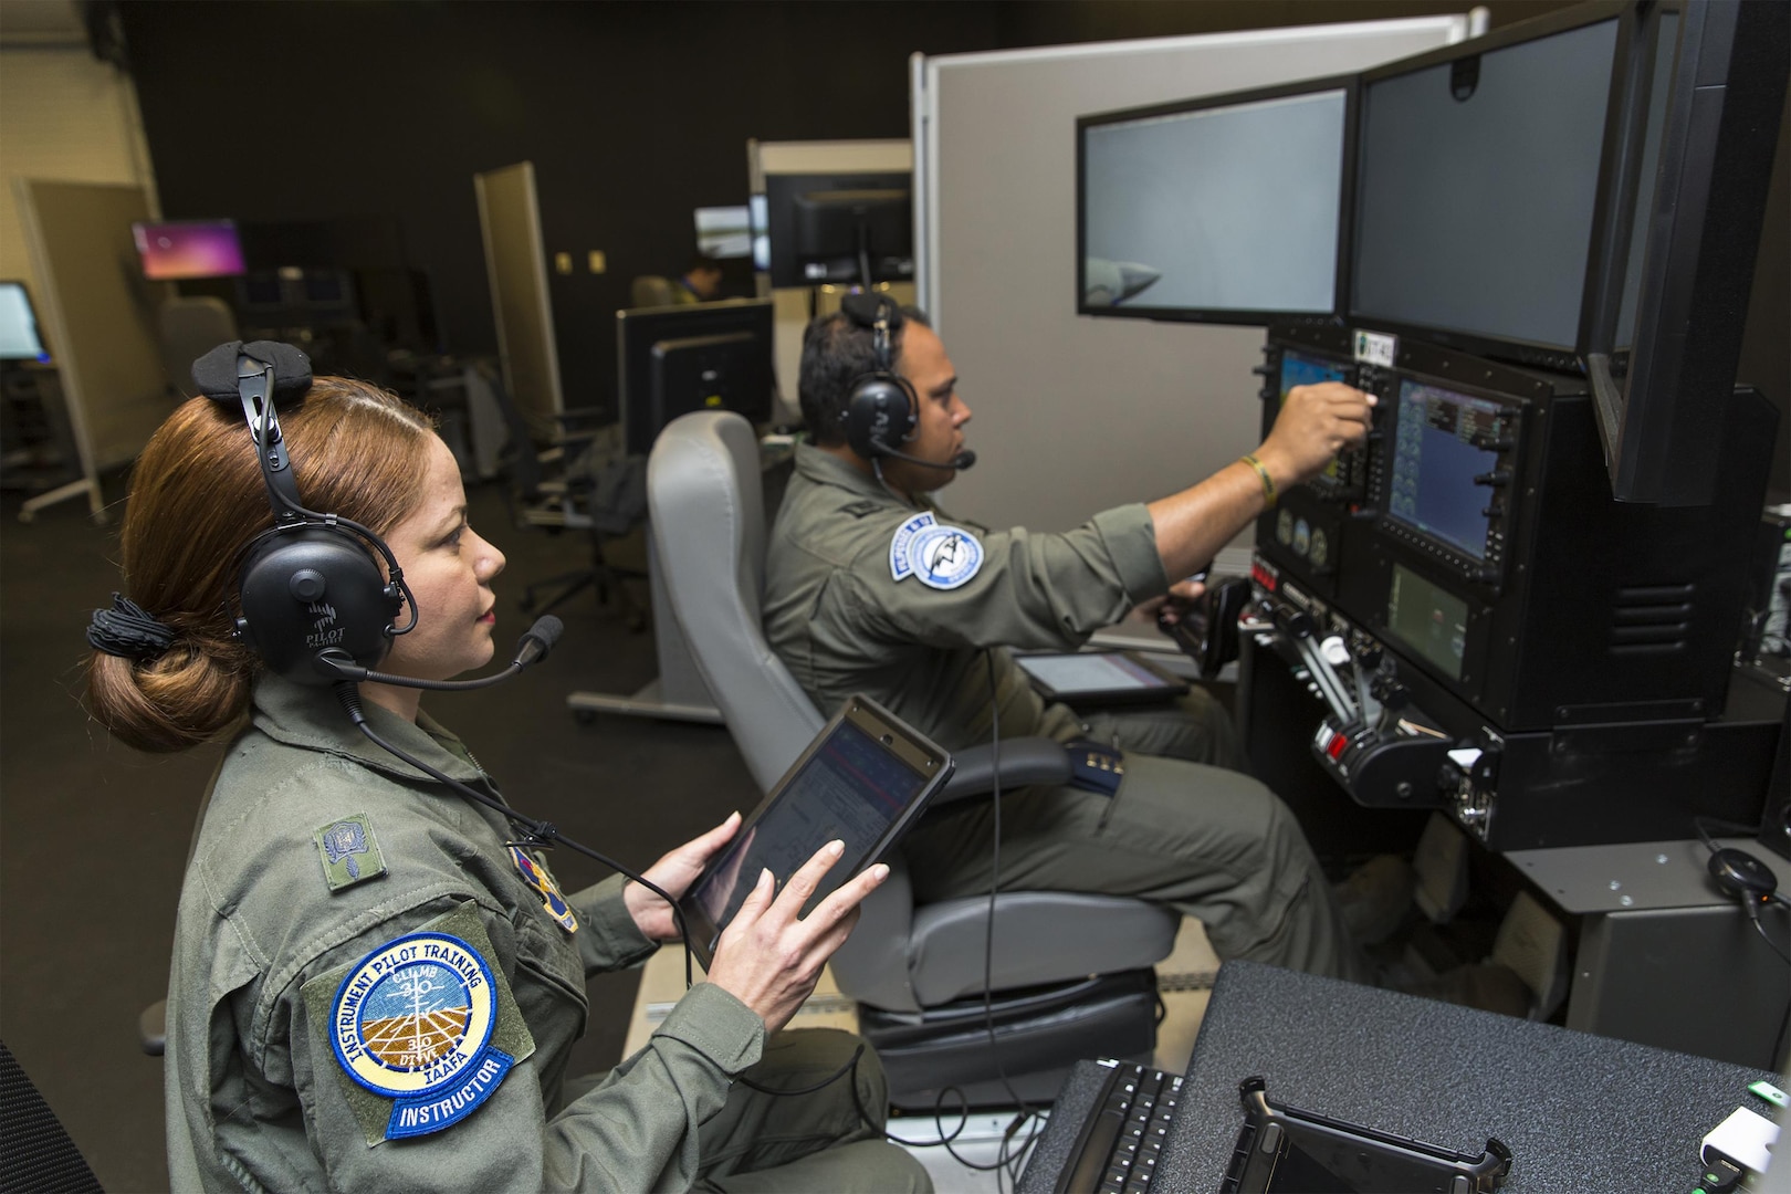
[[[367,1144],[442,1131],[536,1051],[467,900],[304,985],[315,1033]],[[317,1044],[322,1044],[321,1040]]]

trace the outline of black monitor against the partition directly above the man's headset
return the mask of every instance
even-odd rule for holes
[[[772,174],[765,179],[772,286],[913,279],[908,174]]]

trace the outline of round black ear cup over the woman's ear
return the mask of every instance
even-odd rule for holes
[[[296,684],[335,682],[313,664],[319,652],[378,668],[390,648],[401,596],[344,530],[310,523],[267,532],[244,555],[236,585],[244,641]]]

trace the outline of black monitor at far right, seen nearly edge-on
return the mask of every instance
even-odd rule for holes
[[[1587,374],[1612,494],[1703,505],[1723,474],[1784,113],[1791,9],[1705,0],[1646,7],[1630,45]]]

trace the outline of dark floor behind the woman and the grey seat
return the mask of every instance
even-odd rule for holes
[[[122,480],[107,485],[122,492]],[[480,533],[509,555],[498,578],[503,652],[530,621],[516,610],[523,585],[578,567],[586,542],[516,530],[496,487],[473,489],[469,501]],[[77,499],[23,525],[20,503],[0,499],[0,1040],[107,1190],[165,1190],[161,1062],[138,1051],[136,1019],[167,988],[186,843],[217,748],[141,755],[86,720],[82,632],[120,587],[116,517],[97,526]],[[589,591],[555,612],[566,634],[528,675],[424,702],[512,804],[647,865],[758,802],[718,727],[607,716],[577,725],[566,693],[632,693],[654,677],[654,641]],[[604,877],[566,850],[553,866],[568,886]],[[636,985],[632,972],[591,983],[573,1074],[620,1058]]]

